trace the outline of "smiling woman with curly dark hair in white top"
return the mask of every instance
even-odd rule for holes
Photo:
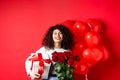
[[[32,63],[28,60],[33,55],[32,54],[26,60],[26,72],[33,80],[37,80],[39,78],[42,80],[58,80],[55,75],[56,73],[54,70],[54,62],[52,61],[52,53],[55,51],[71,51],[73,46],[73,36],[65,26],[58,24],[48,29],[42,41],[42,45],[43,47],[41,47],[34,54],[42,54],[42,58],[50,59],[51,63],[49,64],[44,62],[44,73],[42,75],[35,73],[30,69]]]

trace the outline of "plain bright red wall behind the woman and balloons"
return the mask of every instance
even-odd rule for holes
[[[47,28],[65,20],[97,18],[106,28],[107,61],[88,72],[89,80],[120,80],[119,0],[1,0],[0,80],[28,80],[25,59],[41,46]]]

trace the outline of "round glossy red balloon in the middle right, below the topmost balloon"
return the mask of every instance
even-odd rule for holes
[[[97,47],[100,44],[100,35],[95,32],[87,32],[84,36],[85,42],[88,47]]]

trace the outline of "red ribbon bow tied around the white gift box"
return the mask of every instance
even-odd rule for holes
[[[34,62],[34,61],[39,61],[38,73],[41,74],[41,75],[42,75],[43,72],[44,72],[44,69],[43,69],[43,67],[44,67],[44,62],[50,64],[50,59],[43,59],[41,53],[38,53],[38,56],[37,56],[36,54],[34,54],[34,55],[33,55],[31,58],[29,58],[28,60],[29,60],[29,61],[32,61],[32,65],[31,65],[31,68],[30,68],[31,70],[32,70],[32,68],[33,68],[33,62]]]

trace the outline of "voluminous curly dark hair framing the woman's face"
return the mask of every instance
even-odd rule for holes
[[[52,34],[55,29],[60,30],[63,34],[61,48],[71,50],[73,47],[73,35],[69,31],[69,29],[62,24],[57,24],[55,26],[51,26],[48,29],[47,33],[45,34],[45,37],[43,38],[42,45],[44,45],[46,48],[54,49],[54,41],[52,38]]]

